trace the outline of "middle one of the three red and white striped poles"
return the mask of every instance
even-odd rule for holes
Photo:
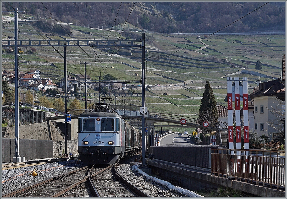
[[[235,90],[235,130],[236,130],[236,149],[241,149],[241,126],[240,126],[240,89],[239,77],[234,77]],[[236,150],[236,155],[240,155],[240,150]],[[237,156],[237,172],[241,172],[241,161]]]

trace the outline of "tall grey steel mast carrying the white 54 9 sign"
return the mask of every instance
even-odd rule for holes
[[[141,34],[141,106],[146,107],[145,96],[145,79],[146,79],[146,55],[145,55],[145,33]],[[141,158],[142,164],[146,165],[146,115],[141,115],[141,130],[142,130],[142,147]]]

